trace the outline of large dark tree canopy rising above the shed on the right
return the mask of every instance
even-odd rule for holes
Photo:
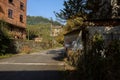
[[[109,0],[67,0],[64,8],[56,16],[63,20],[76,17],[83,19],[109,19],[112,16],[112,6]]]

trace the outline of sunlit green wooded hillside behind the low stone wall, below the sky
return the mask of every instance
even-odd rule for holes
[[[27,39],[41,39],[39,44],[44,44],[44,48],[60,46],[55,42],[55,37],[51,36],[52,27],[62,26],[59,22],[43,18],[41,16],[27,16]]]

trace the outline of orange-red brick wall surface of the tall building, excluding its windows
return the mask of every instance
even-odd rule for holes
[[[24,4],[24,9],[20,9],[20,2]],[[8,17],[8,9],[13,10],[13,18]],[[23,15],[23,22],[20,22],[20,15]],[[0,19],[15,26],[26,28],[26,0],[0,0]]]

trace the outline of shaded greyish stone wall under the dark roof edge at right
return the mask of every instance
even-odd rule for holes
[[[97,26],[88,27],[90,37],[92,37],[96,32],[101,34],[104,40],[120,40],[120,26],[110,27],[110,26]]]

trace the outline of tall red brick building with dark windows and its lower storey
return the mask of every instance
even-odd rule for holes
[[[26,37],[27,0],[0,0],[0,20],[7,22],[14,38]]]

